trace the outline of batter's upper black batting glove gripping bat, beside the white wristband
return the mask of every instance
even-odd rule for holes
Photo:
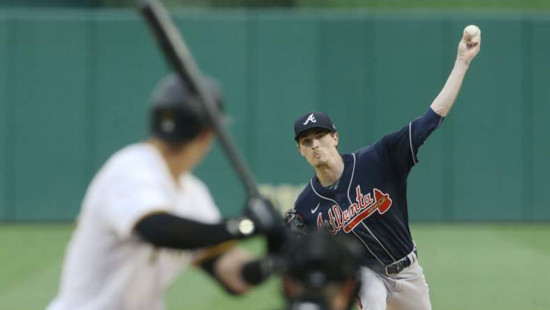
[[[267,237],[268,252],[278,253],[287,239],[287,234],[281,214],[272,202],[261,196],[253,197],[248,200],[243,215],[254,223],[255,233]]]

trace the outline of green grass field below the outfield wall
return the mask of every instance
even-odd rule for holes
[[[55,295],[71,225],[0,225],[0,308],[43,309]],[[549,224],[415,224],[433,309],[548,309]],[[243,244],[259,253],[258,240]],[[182,274],[169,309],[280,309],[277,279],[230,297],[198,270]]]

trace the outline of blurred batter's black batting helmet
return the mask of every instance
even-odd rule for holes
[[[202,80],[222,110],[221,90],[207,77]],[[170,74],[158,82],[151,96],[151,135],[170,143],[184,143],[211,128],[205,105],[192,94],[178,75]]]

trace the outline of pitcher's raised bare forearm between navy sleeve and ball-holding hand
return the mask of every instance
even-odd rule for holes
[[[449,110],[451,110],[456,96],[459,95],[459,90],[464,80],[464,75],[468,71],[469,64],[463,59],[456,59],[454,68],[452,68],[451,74],[445,82],[445,86],[441,89],[440,93],[431,103],[430,108],[438,115],[445,117]]]

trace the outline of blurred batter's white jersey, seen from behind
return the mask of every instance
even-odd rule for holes
[[[157,310],[192,251],[159,249],[133,234],[147,214],[170,212],[216,223],[221,216],[199,179],[176,184],[152,145],[114,154],[91,182],[67,248],[59,295],[47,310]]]

